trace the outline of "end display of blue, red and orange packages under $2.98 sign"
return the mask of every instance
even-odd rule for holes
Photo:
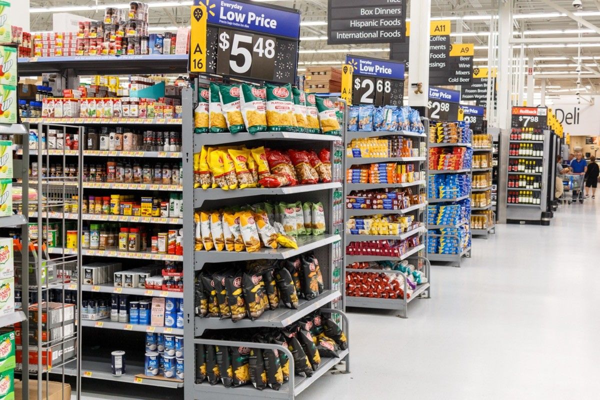
[[[484,140],[477,136],[477,143]],[[460,266],[471,252],[471,212],[479,199],[472,194],[475,163],[475,136],[469,122],[436,122],[429,130],[429,169],[427,215],[427,258]],[[474,155],[475,154],[475,155]]]

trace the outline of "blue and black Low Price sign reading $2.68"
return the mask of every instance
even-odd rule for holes
[[[352,104],[403,104],[404,64],[353,55],[346,56],[346,64],[352,67]]]

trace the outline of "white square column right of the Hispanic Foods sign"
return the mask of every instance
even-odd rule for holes
[[[410,2],[409,105],[411,107],[427,107],[430,18],[431,0]],[[415,93],[416,85],[419,83],[421,83],[421,92]]]

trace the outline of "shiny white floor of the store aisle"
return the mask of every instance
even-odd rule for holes
[[[352,374],[325,375],[299,399],[598,398],[596,204],[474,239],[462,268],[433,267],[432,298],[407,320],[353,312]]]

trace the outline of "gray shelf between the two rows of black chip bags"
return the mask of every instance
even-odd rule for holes
[[[250,318],[233,322],[231,319],[221,320],[220,318],[196,317],[196,336],[202,335],[206,329],[283,328],[298,321],[305,315],[317,311],[317,309],[326,306],[339,297],[341,297],[339,290],[324,290],[316,299],[299,299],[298,309],[289,309],[280,306],[277,309],[265,311],[263,315],[254,321],[250,320]]]

